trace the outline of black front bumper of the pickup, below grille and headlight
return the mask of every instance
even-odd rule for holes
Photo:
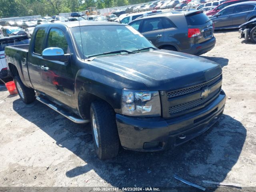
[[[136,151],[161,151],[183,144],[208,130],[221,116],[226,95],[201,110],[172,119],[132,118],[116,114],[118,134],[123,148]]]

